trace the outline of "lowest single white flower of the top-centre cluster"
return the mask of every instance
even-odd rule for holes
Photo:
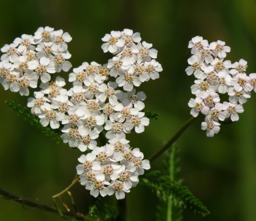
[[[139,87],[141,84],[140,78],[128,72],[121,72],[120,77],[116,78],[116,83],[119,87],[123,87],[126,91],[131,91],[133,86]]]

